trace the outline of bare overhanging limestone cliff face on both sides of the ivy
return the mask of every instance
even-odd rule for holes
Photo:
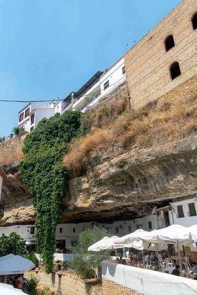
[[[82,171],[69,174],[62,223],[133,219],[171,199],[197,193],[197,136],[171,146],[131,147],[128,143],[90,156]],[[1,226],[33,223],[35,211],[19,161],[4,170],[8,180],[2,189],[6,206]]]

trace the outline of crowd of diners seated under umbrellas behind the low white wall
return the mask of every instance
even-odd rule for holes
[[[115,256],[115,251],[111,251],[111,255]],[[145,260],[149,263],[150,262],[150,268],[155,271],[159,271],[159,260],[165,259],[166,252],[163,251],[162,254],[159,254],[157,257],[155,253],[152,253],[152,257],[149,254],[149,251],[145,253]],[[130,261],[127,263],[125,258],[129,258]],[[142,251],[138,251],[136,254],[132,252],[130,248],[123,248],[123,252],[120,257],[117,257],[115,260],[115,263],[122,264],[122,265],[128,265],[128,266],[135,266],[139,268],[144,268],[143,264],[143,257],[142,257]],[[180,276],[180,266],[176,265],[175,269],[173,269],[172,275]],[[197,275],[197,263],[192,263],[192,271],[190,274],[196,274]],[[186,276],[186,275],[183,275]],[[194,278],[197,280],[197,278]]]

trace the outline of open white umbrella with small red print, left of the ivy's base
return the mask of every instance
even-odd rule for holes
[[[19,255],[8,254],[0,257],[0,275],[24,273],[34,267],[31,260]]]

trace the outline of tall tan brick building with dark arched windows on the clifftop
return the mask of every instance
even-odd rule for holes
[[[183,0],[134,45],[125,55],[125,68],[134,108],[196,77],[197,1]],[[192,84],[196,87],[197,81]]]

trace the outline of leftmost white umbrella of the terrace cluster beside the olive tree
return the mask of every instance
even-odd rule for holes
[[[88,251],[101,251],[101,250],[112,250],[118,248],[124,248],[125,244],[115,244],[114,240],[117,239],[118,236],[104,236],[97,243],[93,244],[88,248]]]

